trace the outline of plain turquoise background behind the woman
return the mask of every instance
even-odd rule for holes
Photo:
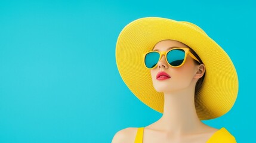
[[[121,30],[141,17],[198,24],[239,76],[229,113],[203,121],[238,142],[255,139],[255,2],[0,1],[0,142],[111,142],[162,114],[127,88],[116,67]],[[221,73],[220,73],[221,74]]]

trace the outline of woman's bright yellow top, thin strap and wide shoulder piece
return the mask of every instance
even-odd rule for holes
[[[144,127],[138,128],[135,143],[143,142],[143,131]],[[224,127],[215,132],[206,143],[236,143],[236,139],[227,129]]]

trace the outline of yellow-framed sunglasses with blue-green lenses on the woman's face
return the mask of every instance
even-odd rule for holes
[[[169,51],[149,51],[143,54],[144,65],[147,69],[154,69],[161,59],[162,55],[165,55],[165,60],[171,67],[181,67],[186,61],[187,54],[193,59],[201,63],[190,51],[189,48],[172,48]]]

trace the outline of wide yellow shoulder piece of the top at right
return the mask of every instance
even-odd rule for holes
[[[236,139],[226,128],[221,128],[214,133],[210,141],[235,143]]]

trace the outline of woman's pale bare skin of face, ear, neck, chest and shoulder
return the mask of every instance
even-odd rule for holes
[[[184,43],[165,40],[156,43],[153,50],[168,51],[169,47],[188,47]],[[166,80],[156,80],[156,74],[165,71],[171,76]],[[205,73],[204,64],[195,64],[193,58],[187,59],[181,67],[171,67],[161,57],[155,69],[150,70],[153,86],[164,92],[164,113],[161,119],[144,127],[143,142],[205,143],[218,131],[201,122],[195,108],[195,85]],[[119,130],[112,143],[134,142],[138,128]]]

